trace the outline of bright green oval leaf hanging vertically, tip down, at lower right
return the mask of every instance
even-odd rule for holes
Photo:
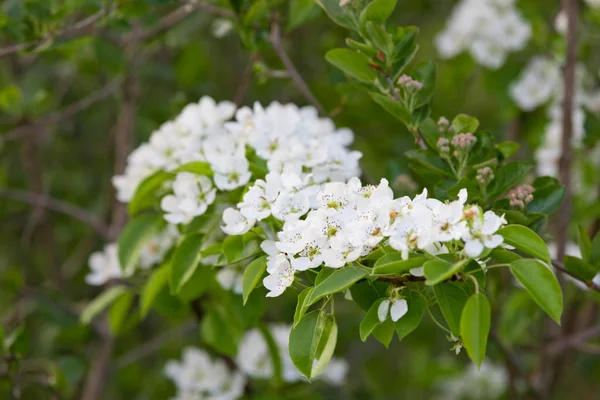
[[[460,336],[469,358],[479,368],[485,358],[492,315],[490,302],[481,293],[472,295],[460,318]]]

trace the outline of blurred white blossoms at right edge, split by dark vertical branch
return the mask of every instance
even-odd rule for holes
[[[576,93],[573,109],[573,137],[571,145],[581,146],[585,135],[585,113],[600,111],[599,92],[589,88],[589,74],[583,66],[576,70]],[[558,162],[562,153],[562,76],[560,60],[550,57],[533,57],[517,81],[510,86],[510,95],[523,111],[532,111],[549,103],[542,144],[536,150],[539,175],[558,175]]]

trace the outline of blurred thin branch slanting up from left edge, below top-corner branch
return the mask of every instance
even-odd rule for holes
[[[120,85],[121,81],[119,79],[114,80],[108,85],[104,86],[103,88],[90,93],[87,97],[84,97],[83,99],[67,106],[63,110],[52,112],[27,125],[17,127],[12,131],[7,132],[0,138],[5,141],[22,139],[23,137],[35,133],[40,128],[45,128],[48,125],[67,120],[79,114],[80,112],[90,108],[99,101],[110,97],[119,89]]]

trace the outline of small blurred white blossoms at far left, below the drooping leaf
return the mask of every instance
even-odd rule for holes
[[[177,242],[179,232],[172,225],[152,236],[140,251],[138,267],[148,269],[162,262],[167,251]],[[116,243],[110,243],[102,251],[96,251],[89,258],[90,273],[85,277],[88,285],[100,286],[112,279],[131,276],[134,268],[124,271],[119,263]]]

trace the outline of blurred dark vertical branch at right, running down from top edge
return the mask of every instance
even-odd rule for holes
[[[577,64],[577,0],[562,0],[567,16],[567,57],[563,66],[562,155],[560,181],[565,185],[565,199],[558,214],[557,258],[562,260],[567,246],[573,201],[571,185],[571,139],[573,137],[573,101],[575,99],[575,67]]]

